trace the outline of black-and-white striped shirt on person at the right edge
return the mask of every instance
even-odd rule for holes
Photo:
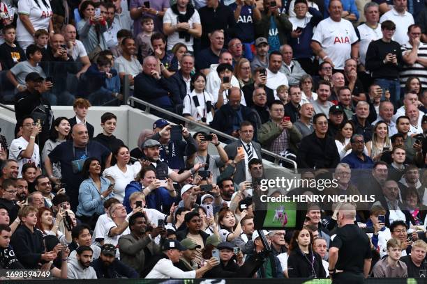
[[[401,46],[402,55],[412,51],[412,45],[409,42],[406,42],[405,45]],[[420,58],[427,59],[427,45],[423,42],[420,42],[418,47],[418,56]],[[403,65],[400,70],[400,87],[404,87],[407,78],[411,76],[418,77],[421,81],[422,88],[427,88],[427,68],[425,68],[421,63],[414,63],[412,65]]]

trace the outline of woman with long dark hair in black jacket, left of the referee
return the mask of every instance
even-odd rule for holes
[[[324,278],[326,271],[322,258],[312,248],[313,235],[309,230],[294,231],[287,258],[287,274],[290,278]]]

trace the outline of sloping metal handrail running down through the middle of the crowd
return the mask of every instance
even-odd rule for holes
[[[233,136],[230,136],[230,135],[225,134],[223,132],[220,132],[220,131],[218,131],[216,129],[213,129],[213,128],[207,126],[207,125],[202,125],[201,123],[197,123],[197,122],[195,122],[195,120],[190,120],[190,119],[188,119],[186,117],[179,116],[177,113],[172,113],[171,111],[167,111],[165,109],[162,109],[161,107],[158,107],[158,106],[156,106],[154,104],[150,104],[149,102],[145,102],[143,100],[140,100],[137,97],[132,97],[132,96],[128,97],[128,100],[125,100],[125,102],[126,102],[126,104],[130,105],[130,107],[134,106],[134,102],[137,102],[138,104],[143,104],[146,107],[145,110],[144,110],[144,112],[150,113],[150,109],[155,109],[156,111],[160,111],[162,113],[167,114],[167,116],[172,116],[173,118],[177,118],[178,120],[183,120],[186,123],[197,124],[197,126],[200,126],[200,127],[204,128],[204,129],[206,129],[207,131],[209,131],[211,133],[214,133],[214,134],[216,134],[218,136],[224,137],[226,139],[230,139],[232,141],[237,140],[236,137],[233,137]],[[288,164],[292,164],[292,168],[293,168],[294,173],[298,173],[298,168],[297,168],[297,162],[296,161],[294,161],[292,159],[287,159],[286,157],[282,157],[282,156],[277,155],[277,154],[274,154],[274,152],[270,152],[270,151],[267,151],[265,149],[261,149],[261,152],[263,154],[265,154],[265,155],[269,155],[270,157],[274,157],[274,164],[278,164],[278,162],[280,160],[281,161],[285,161]]]

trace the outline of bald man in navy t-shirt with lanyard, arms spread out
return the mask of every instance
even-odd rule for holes
[[[111,152],[104,145],[89,140],[85,125],[77,123],[71,133],[73,141],[66,141],[57,145],[45,159],[47,176],[54,183],[59,180],[54,177],[52,163],[61,163],[61,182],[66,184],[66,194],[70,196],[71,209],[77,210],[79,187],[84,180],[82,168],[84,161],[89,157],[100,160],[103,168],[110,167]]]

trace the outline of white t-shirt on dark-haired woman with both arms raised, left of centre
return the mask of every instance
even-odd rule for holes
[[[110,166],[110,168],[105,168],[103,172],[105,178],[111,177],[114,179],[114,197],[121,203],[123,203],[126,186],[135,180],[138,173],[135,166],[126,165],[126,168],[126,173],[123,173],[117,164],[115,164],[114,166]]]

